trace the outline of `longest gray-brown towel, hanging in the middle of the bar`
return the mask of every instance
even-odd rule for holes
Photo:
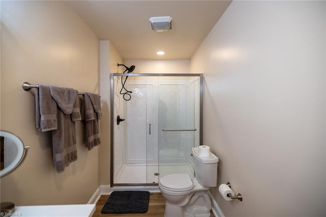
[[[55,86],[49,88],[58,105],[58,127],[52,131],[53,163],[57,172],[62,173],[66,166],[77,160],[75,121],[80,120],[78,91]]]

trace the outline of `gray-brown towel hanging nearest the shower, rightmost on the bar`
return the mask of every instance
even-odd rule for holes
[[[101,143],[98,129],[98,119],[102,117],[100,96],[98,94],[85,93],[83,106],[85,111],[86,147],[88,150],[92,150]]]

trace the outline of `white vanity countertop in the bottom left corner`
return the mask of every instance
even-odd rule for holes
[[[50,206],[16,206],[14,216],[75,216],[91,217],[95,212],[95,204],[50,205]]]

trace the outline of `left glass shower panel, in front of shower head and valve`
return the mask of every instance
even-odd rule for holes
[[[114,76],[113,106],[113,176],[115,184],[148,183],[148,108],[153,98],[153,87],[147,87],[145,76]],[[124,119],[117,123],[118,116]]]

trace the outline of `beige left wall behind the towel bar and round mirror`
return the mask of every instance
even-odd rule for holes
[[[99,185],[98,148],[88,151],[76,124],[78,160],[53,168],[51,134],[35,127],[34,92],[23,82],[99,91],[99,40],[61,2],[1,3],[1,129],[31,146],[23,165],[1,179],[1,201],[16,205],[87,203]]]

